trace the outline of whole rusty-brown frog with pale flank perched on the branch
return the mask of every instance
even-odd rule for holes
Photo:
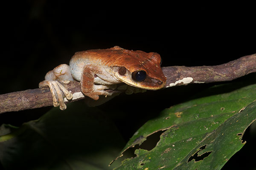
[[[115,89],[119,83],[144,90],[158,90],[166,85],[160,67],[162,59],[155,52],[133,51],[114,46],[76,52],[69,65],[61,64],[47,72],[39,88],[49,87],[53,106],[65,110],[64,97],[73,95],[60,82],[79,81],[81,92],[94,100],[111,96],[106,89]],[[64,96],[63,96],[64,94]]]

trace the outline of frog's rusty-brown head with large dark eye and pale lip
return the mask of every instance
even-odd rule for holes
[[[122,49],[122,53],[119,51],[116,56],[118,57],[113,61],[114,72],[120,81],[147,90],[157,90],[165,86],[166,77],[160,67],[159,54]]]

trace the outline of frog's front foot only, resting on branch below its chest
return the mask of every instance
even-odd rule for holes
[[[103,95],[105,97],[111,96],[112,93],[109,93],[108,91],[105,91],[105,89],[116,89],[116,85],[94,85],[92,92],[86,92],[82,91],[84,95],[89,96],[90,98],[94,100],[99,99],[99,95]]]

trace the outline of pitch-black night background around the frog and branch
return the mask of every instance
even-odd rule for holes
[[[119,45],[153,51],[161,55],[162,66],[219,65],[256,53],[253,4],[24,0],[2,3],[1,8],[0,94],[38,88],[47,71],[68,64],[76,51],[88,49]],[[113,116],[113,121],[128,140],[154,117],[149,110],[158,112],[215,84],[120,96],[100,108],[122,111],[121,116]],[[168,101],[163,98],[167,94],[171,96]],[[1,114],[0,124],[20,125],[49,109]],[[248,155],[256,150],[250,142],[253,140],[255,136],[249,136],[245,147],[224,168],[243,167],[245,162],[253,167],[253,158]],[[236,164],[238,159],[240,165]]]

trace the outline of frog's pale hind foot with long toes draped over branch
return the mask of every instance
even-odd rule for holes
[[[63,83],[68,84],[69,81],[63,81]],[[68,100],[71,100],[73,98],[73,95],[58,81],[44,80],[39,83],[39,88],[46,87],[46,86],[50,88],[50,91],[52,93],[53,106],[54,107],[60,106],[61,110],[65,110],[67,106],[64,103],[62,92],[64,93],[64,95]]]

